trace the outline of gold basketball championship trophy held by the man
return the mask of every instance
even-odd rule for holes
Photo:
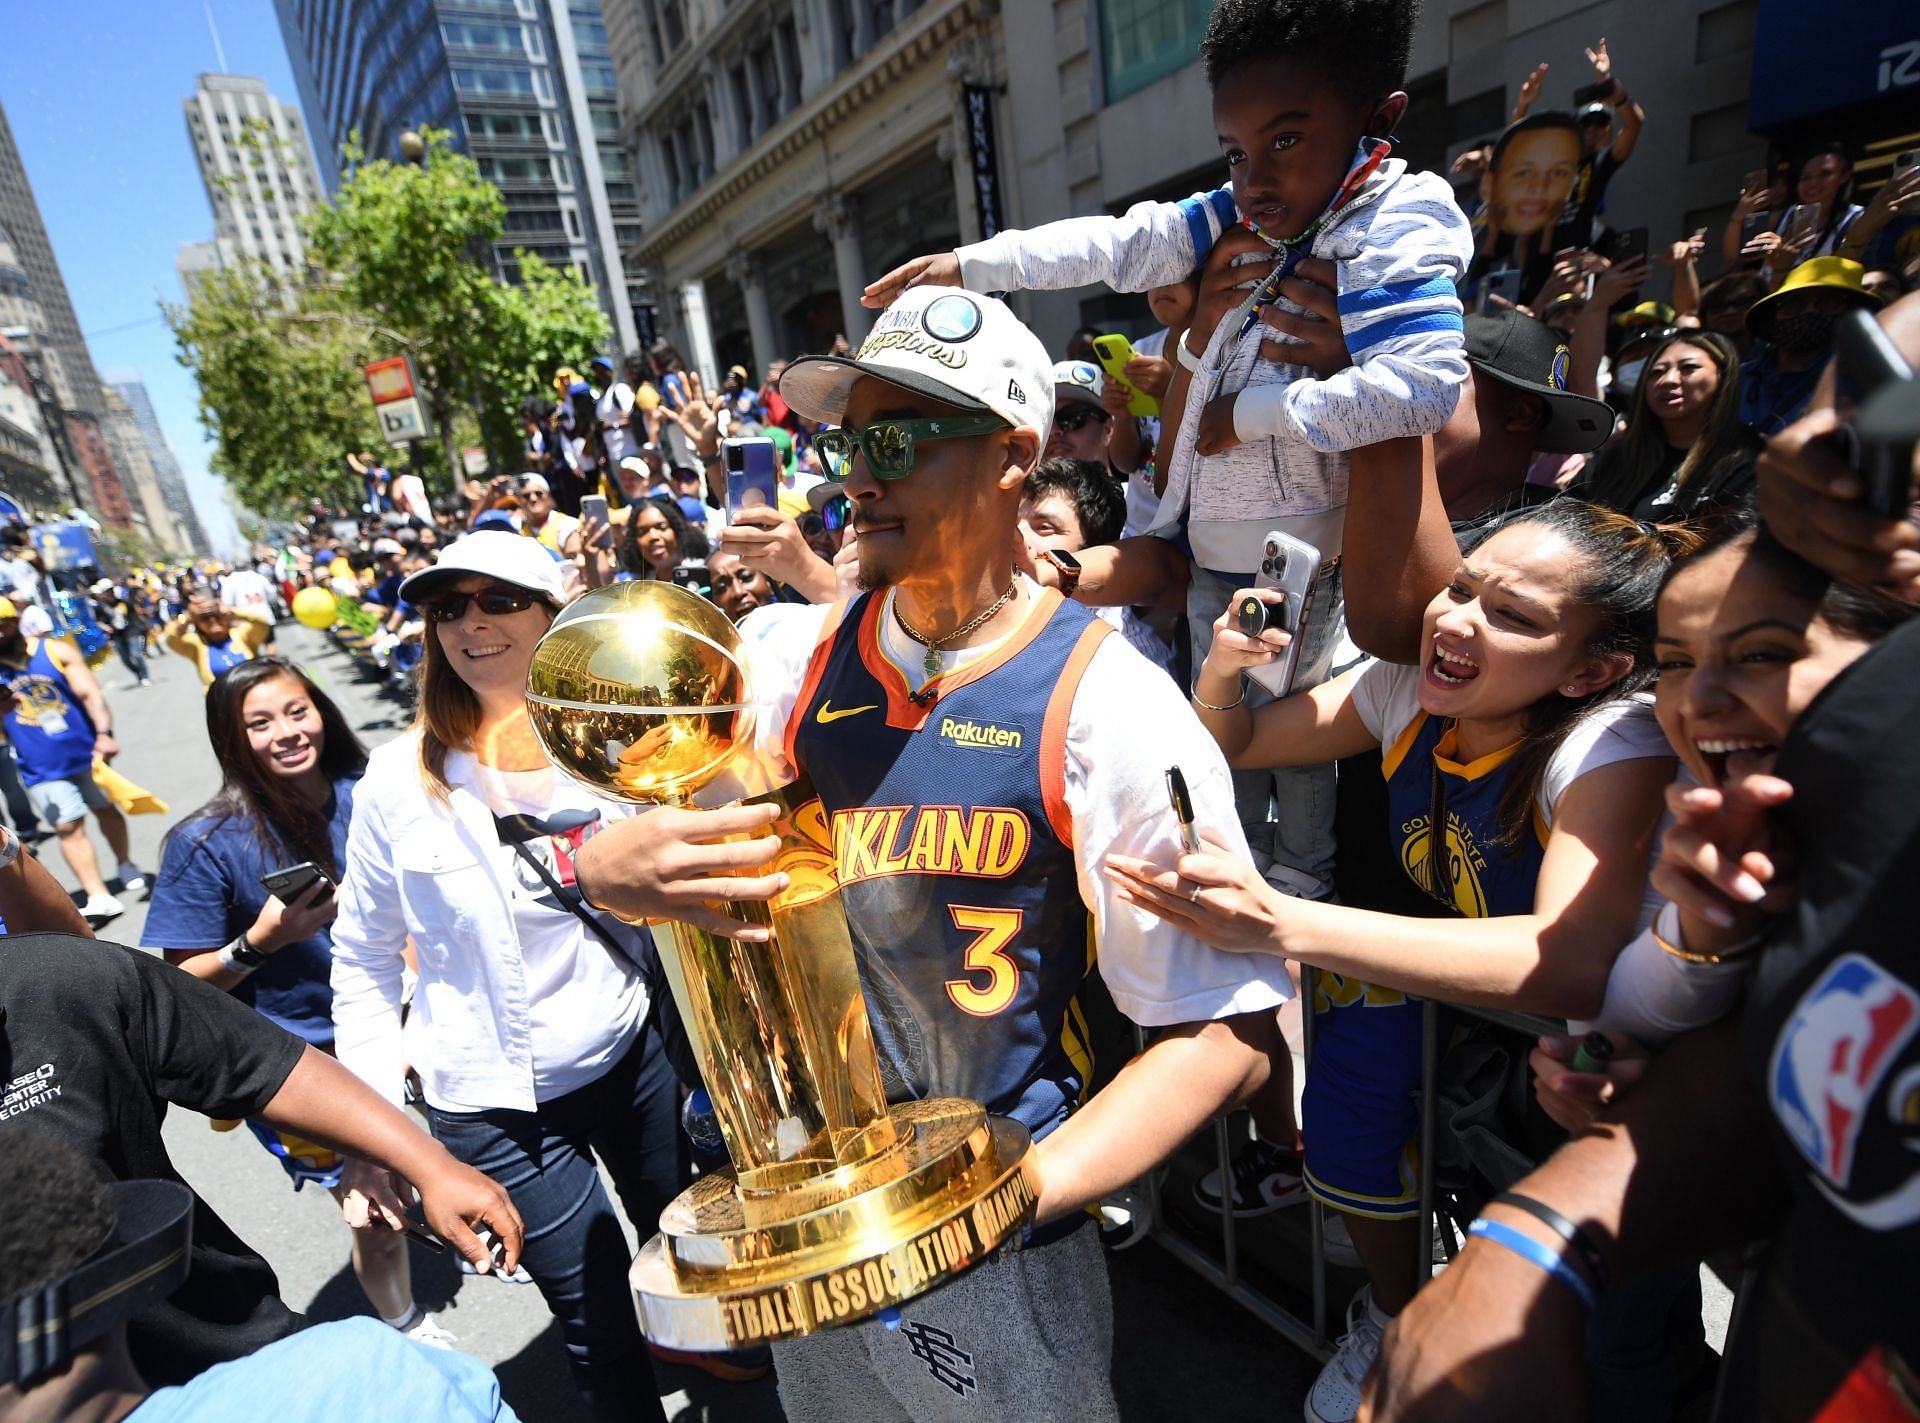
[[[526,699],[553,762],[630,803],[685,805],[753,747],[739,636],[674,584],[572,603]],[[962,1098],[887,1106],[831,828],[806,782],[749,803],[768,801],[791,883],[724,908],[772,941],[653,926],[733,1158],[634,1262],[641,1327],[672,1348],[797,1339],[912,1298],[1016,1237],[1039,1191],[1018,1122]]]

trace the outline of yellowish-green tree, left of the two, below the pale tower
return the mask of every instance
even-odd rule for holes
[[[359,501],[342,457],[380,438],[361,374],[372,321],[326,286],[290,296],[257,267],[207,273],[163,315],[200,386],[213,472],[242,503],[284,519],[290,501]]]

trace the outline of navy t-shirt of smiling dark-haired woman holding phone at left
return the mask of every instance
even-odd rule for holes
[[[328,837],[334,864],[348,860],[348,822],[353,816],[357,778],[334,782]],[[146,910],[142,949],[219,949],[253,928],[267,904],[259,878],[284,870],[294,855],[261,855],[250,820],[215,820],[196,812],[167,833]],[[286,1031],[315,1047],[334,1045],[334,935],[323,926],[275,953],[259,970],[240,979],[232,995],[250,1002]]]

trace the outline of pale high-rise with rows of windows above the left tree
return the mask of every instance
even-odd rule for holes
[[[300,219],[321,202],[300,109],[244,75],[200,75],[182,108],[221,265],[261,263],[276,280],[298,280],[307,265]]]

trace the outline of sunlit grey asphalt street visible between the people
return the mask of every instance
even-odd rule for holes
[[[280,651],[298,659],[340,701],[369,743],[401,730],[399,709],[361,682],[353,663],[324,638],[292,622],[280,626],[278,638]],[[165,832],[219,784],[192,666],[161,651],[152,668],[150,687],[132,687],[117,661],[100,668],[125,747],[115,764],[171,807],[167,816],[131,822],[134,858],[150,870],[159,864]],[[44,860],[63,883],[73,885],[58,851],[48,849]],[[138,943],[144,920],[146,906],[131,904],[102,937]],[[309,1189],[294,1194],[280,1168],[246,1131],[215,1133],[205,1118],[175,1110],[165,1135],[180,1173],[267,1256],[294,1308],[313,1319],[371,1314],[348,1267],[346,1229],[324,1193]],[[1110,1264],[1114,1377],[1129,1421],[1298,1417],[1315,1371],[1306,1354],[1156,1244],[1114,1254]],[[461,1348],[493,1365],[507,1402],[522,1419],[586,1423],[588,1413],[566,1375],[559,1329],[532,1287],[461,1275],[449,1256],[434,1256],[420,1246],[413,1246],[413,1269],[419,1300],[459,1337]],[[772,1381],[728,1385],[693,1369],[662,1367],[660,1383],[676,1390],[666,1408],[680,1421],[762,1423],[781,1417]],[[1060,1400],[1058,1415],[1071,1419],[1073,1400]]]

